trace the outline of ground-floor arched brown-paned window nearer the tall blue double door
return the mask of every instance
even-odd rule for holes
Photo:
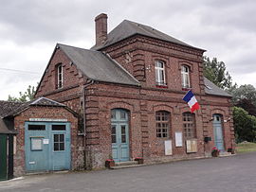
[[[156,137],[170,137],[170,113],[158,111],[155,113]]]

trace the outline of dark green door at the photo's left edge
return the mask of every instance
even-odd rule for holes
[[[0,134],[0,181],[7,179],[7,135]]]

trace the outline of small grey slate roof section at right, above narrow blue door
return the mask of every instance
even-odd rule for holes
[[[213,96],[229,96],[227,92],[225,92],[223,89],[219,88],[217,85],[215,85],[213,82],[210,81],[210,79],[207,79],[204,77],[205,81],[205,92],[208,95],[213,95]]]

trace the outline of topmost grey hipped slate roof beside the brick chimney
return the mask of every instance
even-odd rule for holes
[[[116,26],[112,31],[110,31],[108,33],[107,40],[104,44],[102,44],[100,46],[94,45],[91,49],[99,50],[105,46],[108,46],[111,44],[116,44],[119,41],[129,38],[136,34],[155,38],[158,40],[163,40],[166,42],[171,42],[174,44],[180,44],[180,45],[196,48],[190,44],[181,42],[181,41],[175,39],[174,37],[171,37],[159,30],[156,30],[155,28],[153,28],[151,26],[145,26],[142,24],[128,21],[128,20],[124,20],[119,24],[119,26]],[[200,49],[200,48],[196,48],[196,49]],[[205,51],[203,49],[200,49],[200,50]]]

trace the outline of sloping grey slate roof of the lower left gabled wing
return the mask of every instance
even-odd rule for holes
[[[57,44],[67,57],[73,61],[88,79],[114,82],[129,85],[139,85],[128,71],[118,62],[100,51],[87,50],[65,44]]]

